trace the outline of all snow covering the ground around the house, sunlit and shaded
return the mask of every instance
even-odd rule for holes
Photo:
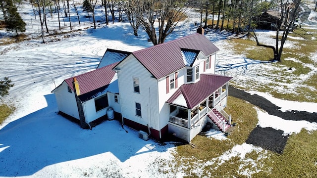
[[[34,18],[32,13],[31,10],[23,13],[29,34],[39,29],[35,19],[31,20]],[[97,16],[102,18],[102,13]],[[167,41],[196,32],[197,26],[193,22],[200,21],[199,15],[191,12],[189,17],[190,20],[180,23]],[[85,24],[86,27],[91,25],[87,25],[87,19]],[[154,140],[144,141],[138,138],[137,131],[125,127],[126,132],[117,121],[106,121],[93,130],[82,130],[57,114],[55,97],[51,91],[66,78],[96,69],[106,48],[134,51],[152,45],[142,30],[139,31],[139,37],[133,36],[127,22],[108,26],[99,24],[98,29],[85,30],[85,26],[76,25],[74,28],[82,30],[47,37],[50,41],[47,44],[34,38],[0,46],[0,77],[9,77],[14,83],[10,94],[3,101],[15,104],[17,108],[0,125],[0,177],[186,176],[182,170],[173,170],[167,164],[174,159],[175,146],[172,143],[160,145]],[[1,34],[4,32],[1,31]],[[233,54],[230,45],[224,41],[228,36],[230,34],[216,31],[207,34],[207,38],[220,48],[217,55],[219,74],[231,75],[239,82],[257,80],[265,83],[273,80],[274,76],[255,75],[261,68],[271,70],[270,63],[263,64]],[[261,40],[266,39],[264,35],[259,37]],[[286,101],[267,93],[249,92],[264,96],[284,111],[296,108],[317,112],[317,103]],[[317,123],[285,121],[261,110],[258,110],[258,115],[261,127],[274,127],[284,131],[284,134],[298,133],[302,128],[317,130]],[[270,119],[280,124],[271,126],[268,124]],[[210,131],[209,136],[225,139],[223,134],[215,131]],[[198,160],[193,172],[199,175],[200,169],[205,166],[221,164],[221,160],[228,160],[232,156],[239,156],[243,160],[244,155],[252,151],[262,151],[262,148],[246,143],[236,145],[215,159],[218,161],[206,163]],[[241,175],[252,175],[252,172],[243,169],[239,172]]]

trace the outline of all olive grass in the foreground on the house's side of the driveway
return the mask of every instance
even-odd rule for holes
[[[224,162],[218,160],[218,156],[231,150],[234,145],[245,143],[258,122],[254,106],[244,100],[229,96],[225,110],[237,123],[228,135],[230,140],[197,135],[192,140],[197,148],[189,144],[177,146],[175,160],[168,163],[173,167],[172,172],[181,169],[187,177],[209,178],[248,178],[244,171],[252,174],[252,178],[317,177],[317,131],[303,129],[299,134],[291,134],[282,154],[254,150],[247,153],[244,159],[234,156]],[[210,161],[213,164],[204,166]],[[202,172],[196,174],[196,169],[202,169]]]

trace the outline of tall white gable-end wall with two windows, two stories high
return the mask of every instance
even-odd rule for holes
[[[122,117],[159,130],[157,80],[133,55],[117,68]],[[140,93],[134,92],[133,77],[139,78]],[[141,104],[142,117],[136,116],[136,102]]]

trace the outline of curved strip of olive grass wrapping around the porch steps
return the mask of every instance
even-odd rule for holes
[[[177,146],[177,154],[175,155],[178,162],[177,165],[191,165],[193,164],[191,163],[192,159],[211,160],[223,154],[224,151],[231,150],[234,145],[242,144],[247,140],[249,134],[258,123],[258,115],[254,105],[228,96],[228,106],[225,111],[232,115],[232,122],[237,123],[233,131],[228,135],[230,139],[217,140],[197,135],[191,141],[197,148],[193,148],[190,144]],[[189,174],[190,167],[187,167],[187,169]]]

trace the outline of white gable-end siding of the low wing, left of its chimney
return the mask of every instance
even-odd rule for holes
[[[79,113],[77,103],[75,99],[75,93],[68,92],[68,85],[65,81],[55,90],[55,98],[58,106],[58,110],[68,114],[76,119],[79,119]]]

